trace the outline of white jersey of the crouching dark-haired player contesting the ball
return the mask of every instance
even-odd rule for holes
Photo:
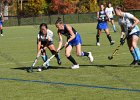
[[[53,41],[53,32],[51,30],[47,29],[47,36],[46,37],[43,34],[40,34],[40,32],[39,32],[37,38],[41,42],[47,42],[48,40]]]

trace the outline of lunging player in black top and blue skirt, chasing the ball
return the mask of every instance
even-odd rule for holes
[[[87,56],[91,62],[93,62],[93,56],[91,52],[82,52],[81,51],[81,45],[82,45],[82,40],[80,37],[80,34],[70,25],[64,24],[61,21],[61,18],[58,18],[56,23],[55,23],[57,29],[58,29],[58,36],[59,36],[59,45],[58,49],[59,50],[62,46],[62,35],[67,37],[67,42],[65,43],[65,55],[73,63],[73,66],[71,66],[72,69],[77,69],[79,68],[79,64],[75,61],[75,59],[71,56],[71,51],[73,46],[76,47],[76,53],[77,56]]]

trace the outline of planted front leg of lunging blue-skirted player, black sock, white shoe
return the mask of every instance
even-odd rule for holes
[[[79,65],[75,61],[75,59],[71,56],[71,51],[72,51],[72,46],[68,45],[65,49],[65,55],[68,58],[69,61],[73,63],[73,66],[71,66],[72,69],[77,69],[79,68]]]

